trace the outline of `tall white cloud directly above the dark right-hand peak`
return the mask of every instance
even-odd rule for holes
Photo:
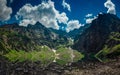
[[[108,8],[107,13],[116,14],[115,4],[111,0],[107,0],[104,3],[104,6]]]

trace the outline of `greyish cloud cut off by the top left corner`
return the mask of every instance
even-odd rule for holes
[[[6,0],[0,0],[0,21],[6,21],[10,19],[12,9],[7,6]]]

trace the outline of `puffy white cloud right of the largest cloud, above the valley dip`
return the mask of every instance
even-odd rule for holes
[[[69,32],[69,31],[72,31],[74,29],[79,29],[81,25],[82,24],[80,24],[78,20],[71,20],[67,24],[66,31]]]

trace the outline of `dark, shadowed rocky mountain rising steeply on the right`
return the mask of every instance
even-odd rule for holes
[[[75,41],[73,48],[86,53],[97,53],[106,44],[111,43],[111,46],[120,44],[120,42],[112,43],[110,41],[113,32],[120,33],[120,19],[112,14],[99,14],[98,18],[93,20],[90,27]]]

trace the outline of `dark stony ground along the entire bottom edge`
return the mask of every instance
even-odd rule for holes
[[[41,68],[40,62],[8,63],[0,58],[0,75],[120,75],[120,59],[109,62],[79,62],[61,67],[55,63]]]

